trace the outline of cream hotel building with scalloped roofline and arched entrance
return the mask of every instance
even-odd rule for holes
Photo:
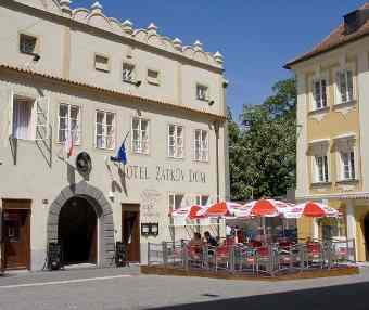
[[[148,242],[171,240],[173,208],[228,197],[222,55],[71,2],[0,2],[5,269],[42,269],[49,243],[69,264],[112,266],[120,241],[144,262]],[[124,140],[126,165],[110,158]]]

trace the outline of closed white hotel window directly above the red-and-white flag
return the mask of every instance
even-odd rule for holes
[[[73,143],[80,143],[80,108],[76,105],[61,104],[59,106],[59,142],[65,142],[72,133]]]

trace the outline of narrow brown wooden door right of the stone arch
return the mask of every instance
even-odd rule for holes
[[[128,261],[140,261],[140,206],[122,205],[122,241],[126,244]]]

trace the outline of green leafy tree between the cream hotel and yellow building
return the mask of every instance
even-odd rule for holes
[[[239,126],[228,113],[231,198],[283,196],[295,186],[295,79],[277,82],[262,105],[244,105]]]

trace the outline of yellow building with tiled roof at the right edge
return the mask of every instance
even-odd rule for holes
[[[297,80],[296,198],[343,214],[302,219],[300,237],[347,237],[369,260],[369,3],[285,67]]]

